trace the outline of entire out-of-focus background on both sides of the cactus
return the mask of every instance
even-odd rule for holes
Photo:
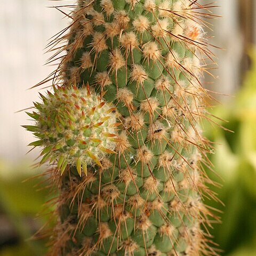
[[[209,2],[209,1],[207,1]],[[36,184],[42,178],[29,179],[42,170],[31,168],[38,151],[26,154],[32,136],[20,125],[27,116],[17,111],[38,99],[38,90],[29,87],[51,73],[44,66],[49,54],[47,40],[67,26],[68,20],[46,0],[1,1],[0,7],[0,256],[45,254],[44,243],[29,239],[46,217],[36,218],[47,200],[47,191]],[[61,5],[72,1],[60,1]],[[201,3],[206,1],[201,0]],[[58,3],[57,3],[58,4]],[[222,184],[217,191],[225,204],[207,202],[219,209],[222,225],[214,225],[214,242],[221,255],[256,255],[256,1],[218,0],[212,10],[222,18],[212,19],[209,43],[214,49],[217,79],[205,77],[205,86],[218,92],[210,111],[229,122],[204,125],[205,135],[215,143],[210,156],[215,171],[212,179]],[[66,10],[67,11],[67,10]],[[213,32],[211,31],[213,30]],[[221,95],[227,94],[227,95]],[[29,179],[26,182],[22,182]]]

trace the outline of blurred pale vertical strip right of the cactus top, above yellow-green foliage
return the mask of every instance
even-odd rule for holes
[[[238,20],[239,0],[215,0],[214,5],[220,7],[212,10],[221,15],[222,18],[210,20],[213,24],[214,36],[211,44],[221,47],[223,50],[213,49],[217,56],[218,69],[213,71],[216,81],[211,80],[213,91],[233,95],[241,85],[240,83],[240,61],[243,54],[243,35],[239,29]],[[218,97],[223,101],[229,97]]]

